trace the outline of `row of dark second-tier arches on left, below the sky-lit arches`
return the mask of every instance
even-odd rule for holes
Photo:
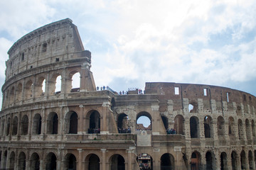
[[[30,121],[28,120],[28,115],[23,115],[21,121],[18,121],[18,116],[14,116],[13,119],[10,117],[6,120],[1,118],[1,135],[28,135],[28,130],[30,126]],[[59,115],[58,113],[51,112],[48,114],[46,122],[42,120],[42,116],[36,113],[33,116],[33,121],[31,125],[32,135],[41,135],[43,130],[43,123],[46,125],[46,134],[58,134],[59,132]],[[87,129],[99,129],[100,130],[100,113],[97,111],[90,111],[87,114],[86,119]],[[75,111],[69,111],[65,114],[64,119],[64,133],[65,134],[77,134],[78,133],[78,113]]]

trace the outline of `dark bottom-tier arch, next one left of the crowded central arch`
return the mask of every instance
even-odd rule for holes
[[[111,170],[125,170],[125,161],[121,154],[113,154],[109,162]]]

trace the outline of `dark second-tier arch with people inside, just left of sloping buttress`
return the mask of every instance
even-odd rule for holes
[[[88,133],[100,133],[100,113],[97,111],[91,111],[89,113],[89,129]]]

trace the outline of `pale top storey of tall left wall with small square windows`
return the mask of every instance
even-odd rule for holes
[[[6,80],[28,69],[79,57],[84,50],[77,27],[70,19],[33,30],[14,43],[6,62]]]

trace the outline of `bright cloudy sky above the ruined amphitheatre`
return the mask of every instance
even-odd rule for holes
[[[0,85],[6,52],[26,33],[70,18],[92,52],[96,86],[145,82],[226,86],[256,95],[256,1],[0,1]]]

